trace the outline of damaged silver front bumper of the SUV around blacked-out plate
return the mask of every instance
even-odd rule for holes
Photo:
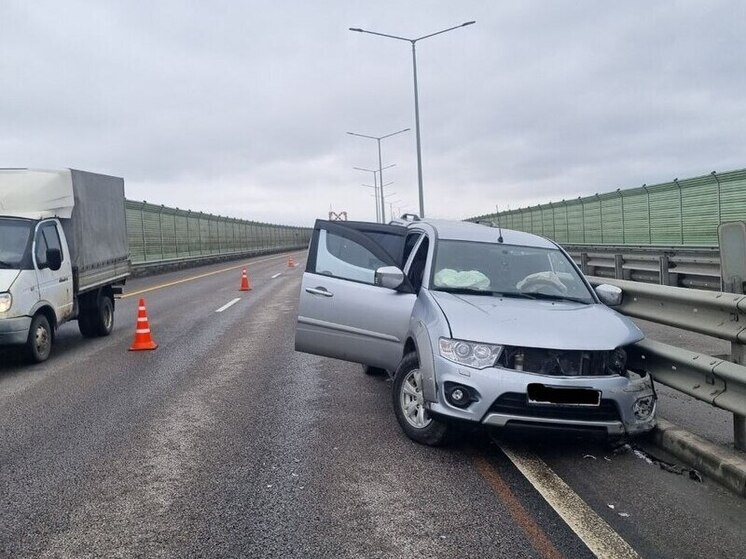
[[[435,359],[437,401],[429,409],[439,416],[497,427],[566,427],[636,435],[655,427],[656,395],[649,375],[553,376],[492,367],[471,369]],[[598,405],[537,404],[528,399],[530,384],[600,392]],[[454,405],[449,393],[464,387],[468,405]],[[450,400],[450,401],[449,401]]]

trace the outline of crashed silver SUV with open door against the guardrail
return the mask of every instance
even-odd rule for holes
[[[393,374],[396,418],[438,445],[454,420],[632,435],[655,425],[643,338],[558,245],[466,222],[319,220],[295,349]]]

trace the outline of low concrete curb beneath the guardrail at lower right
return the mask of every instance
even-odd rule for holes
[[[746,456],[658,418],[651,440],[741,497],[746,497]]]

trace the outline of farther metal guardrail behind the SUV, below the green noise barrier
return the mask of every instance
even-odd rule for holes
[[[720,290],[717,247],[563,245],[588,276]]]

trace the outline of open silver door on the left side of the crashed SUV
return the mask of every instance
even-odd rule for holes
[[[394,370],[416,295],[375,285],[383,266],[403,267],[407,228],[318,220],[300,290],[295,349]]]

